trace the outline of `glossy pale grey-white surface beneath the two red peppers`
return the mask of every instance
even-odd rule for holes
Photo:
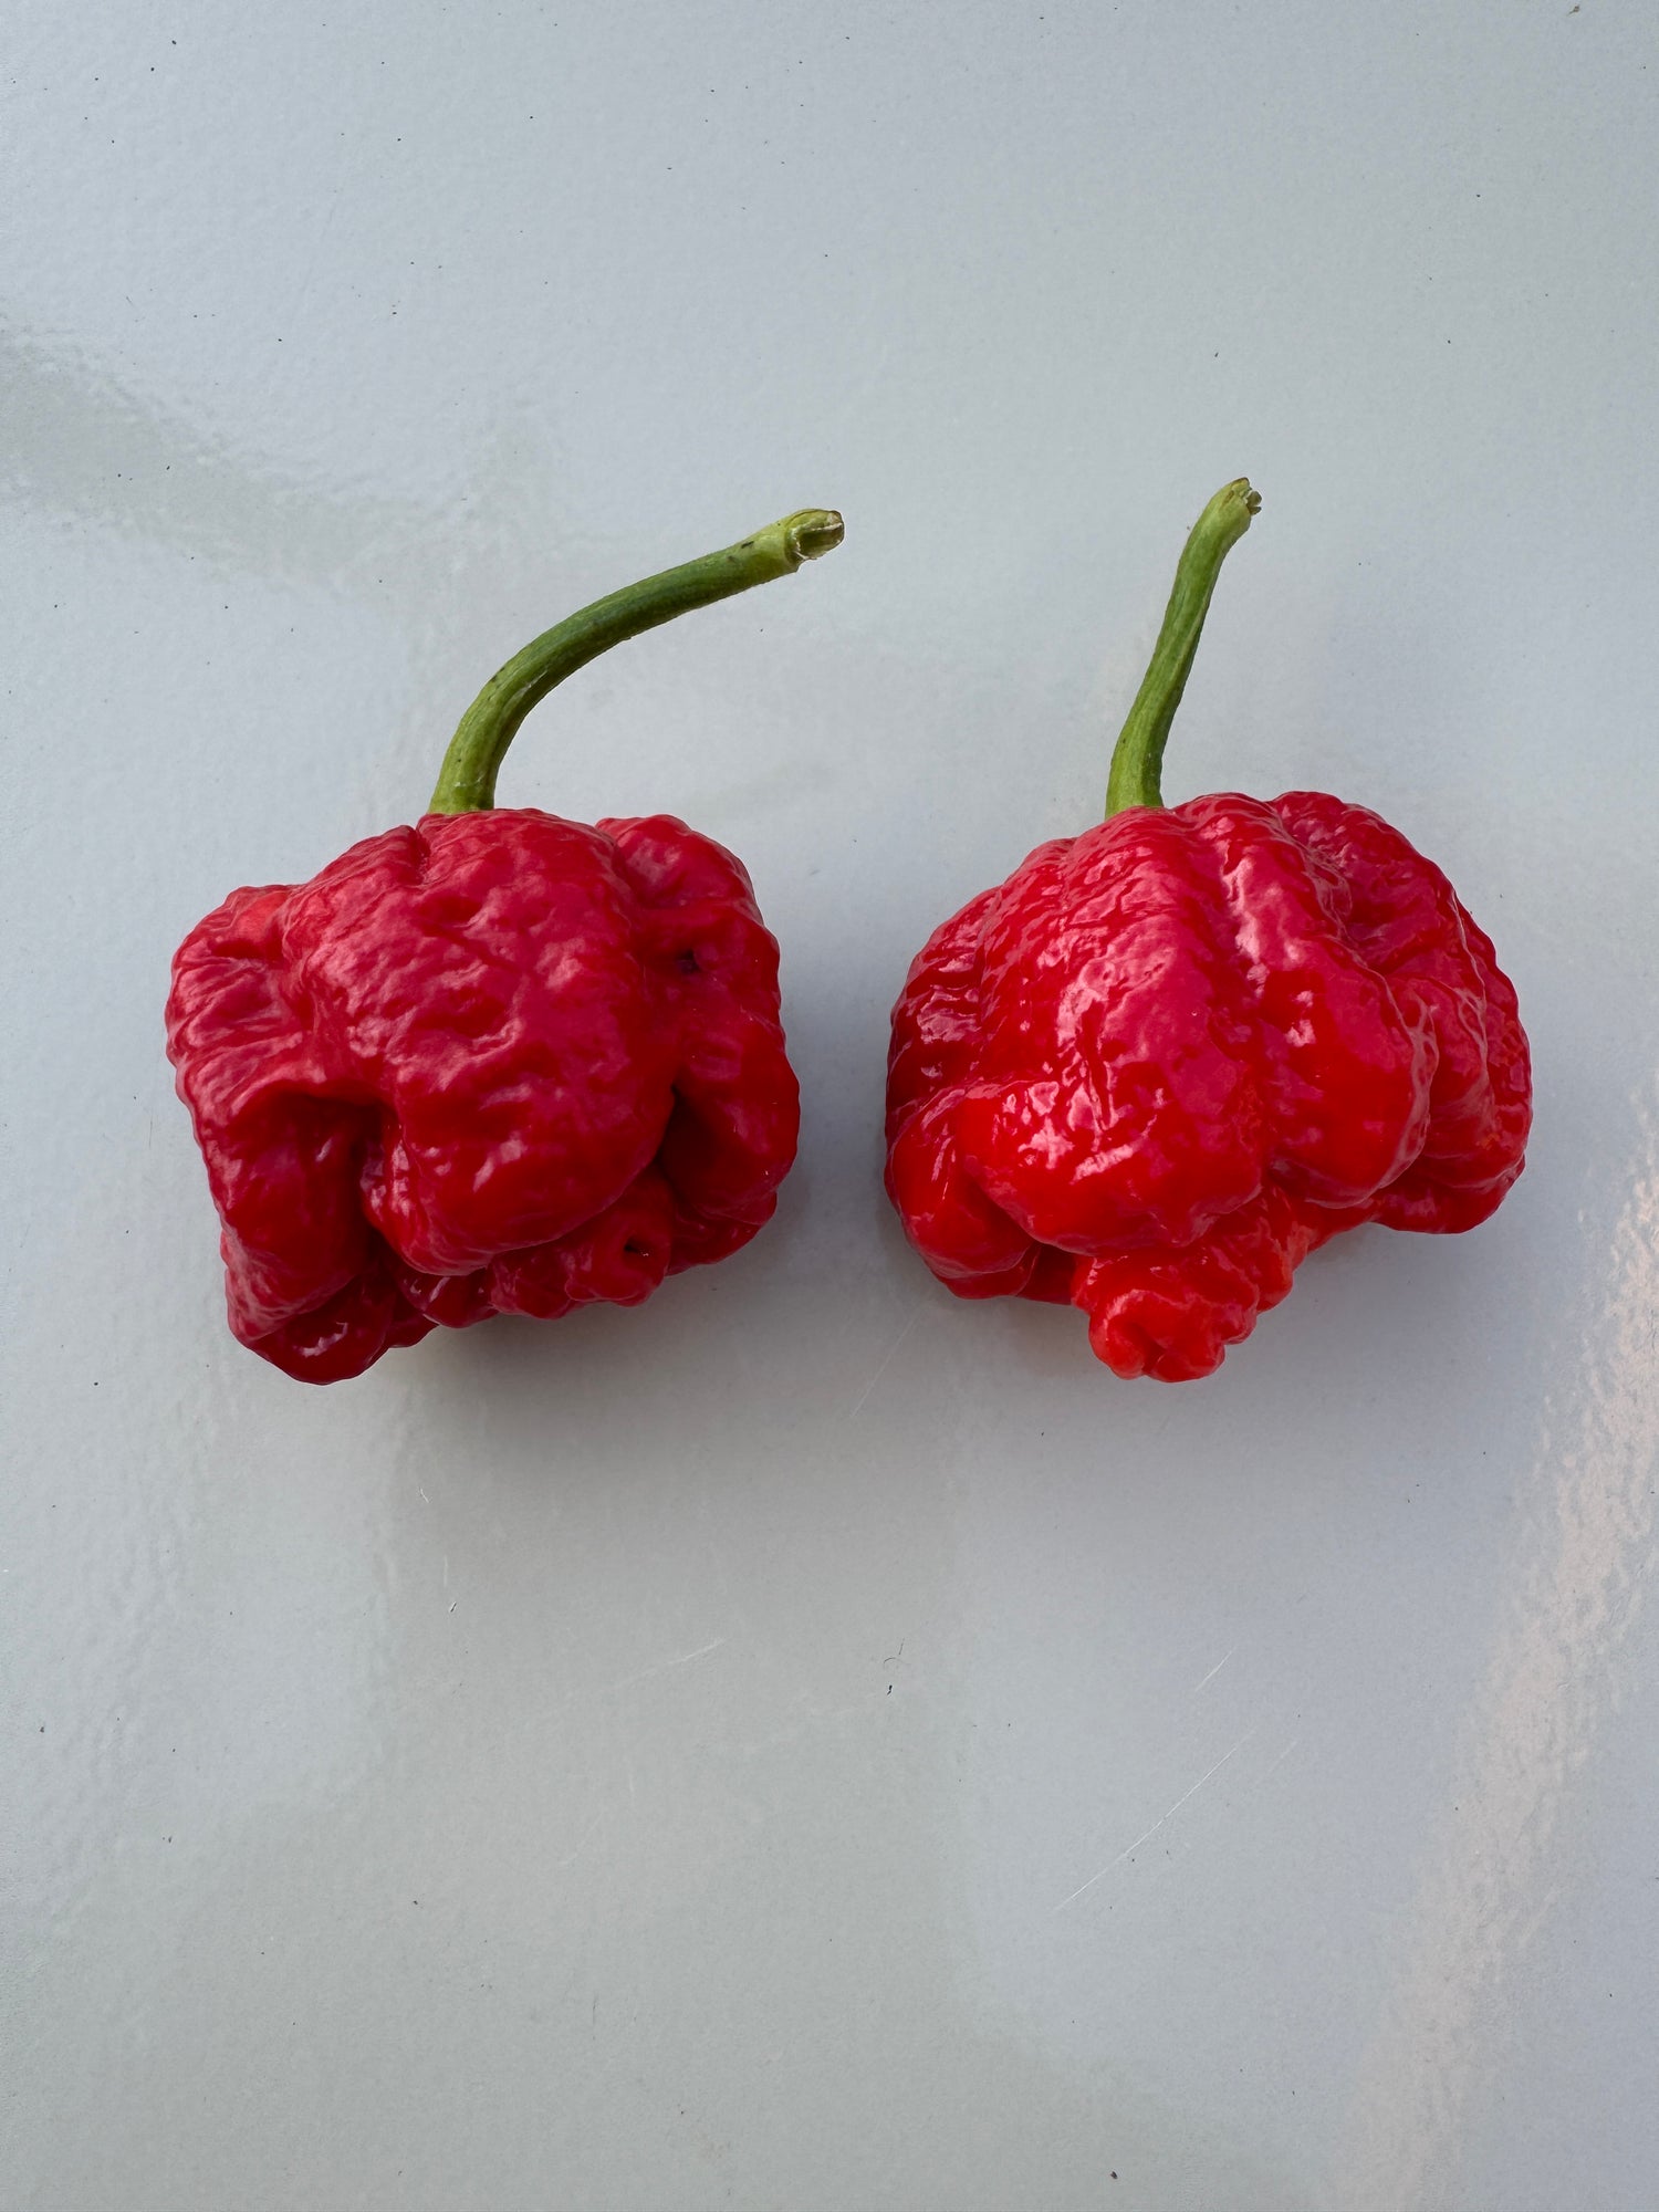
[[[22,0],[4,77],[7,2208],[1650,2205],[1652,11]],[[1241,471],[1170,796],[1398,821],[1537,1133],[1164,1389],[907,1254],[885,1015]],[[745,856],[776,1223],[288,1383],[175,942],[807,502],[502,776]]]

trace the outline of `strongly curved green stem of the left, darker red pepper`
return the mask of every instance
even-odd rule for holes
[[[577,615],[544,630],[522,653],[498,668],[460,717],[449,739],[431,814],[480,814],[495,805],[495,772],[518,726],[529,710],[577,668],[619,646],[626,637],[655,630],[659,622],[688,615],[695,606],[712,606],[737,591],[770,584],[774,575],[794,575],[801,562],[834,551],[843,538],[841,515],[823,507],[803,507],[783,522],[770,522],[752,538],[719,553],[703,553],[681,568],[664,568],[641,584],[613,591]]]

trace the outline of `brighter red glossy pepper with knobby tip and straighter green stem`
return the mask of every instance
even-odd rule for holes
[[[1166,807],[1221,562],[1210,500],[1113,754],[1106,821],[969,900],[894,1006],[887,1192],[960,1298],[1088,1314],[1119,1376],[1212,1374],[1360,1221],[1469,1230],[1522,1172],[1526,1037],[1440,869],[1325,792]]]

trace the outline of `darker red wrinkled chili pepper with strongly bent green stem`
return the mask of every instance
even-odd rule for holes
[[[416,827],[184,940],[168,1057],[243,1345],[336,1383],[438,1323],[637,1305],[770,1219],[799,1088],[741,863],[670,814],[498,812],[495,770],[608,646],[836,544],[807,509],[571,615],[478,695]]]

